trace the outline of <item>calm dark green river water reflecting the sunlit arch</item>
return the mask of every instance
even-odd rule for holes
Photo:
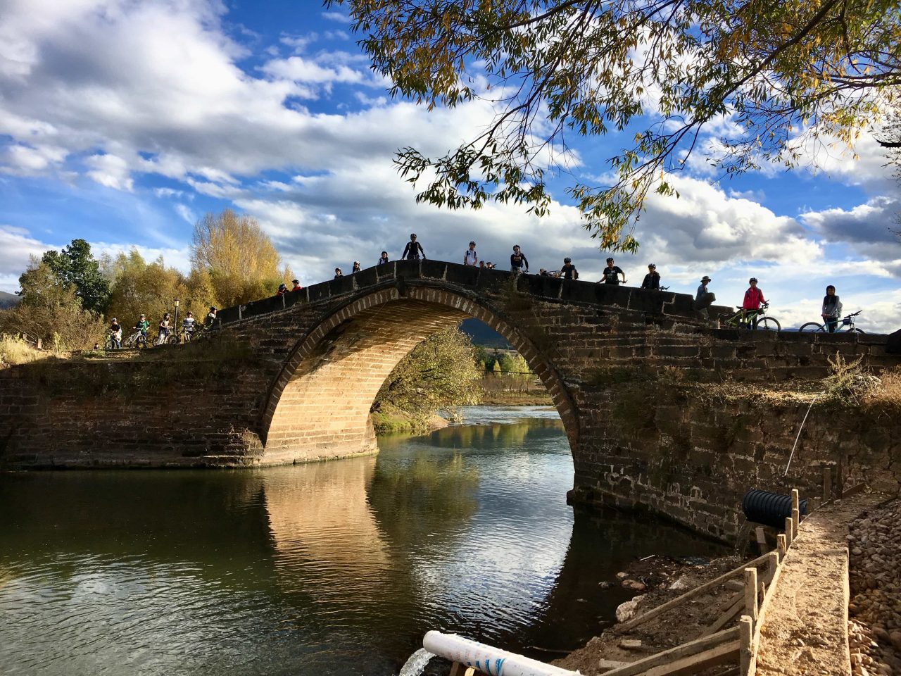
[[[549,660],[635,557],[714,554],[574,513],[556,413],[473,407],[378,456],[0,475],[0,674],[396,674],[429,629]],[[531,647],[530,647],[531,646]]]

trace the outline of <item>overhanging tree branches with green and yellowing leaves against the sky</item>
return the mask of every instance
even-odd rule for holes
[[[569,187],[600,248],[634,251],[653,191],[700,154],[720,174],[851,144],[901,98],[901,0],[328,0],[392,93],[493,123],[441,157],[398,151],[417,201],[547,213],[566,138],[628,131],[612,185]],[[715,132],[705,137],[706,130]],[[715,136],[719,136],[715,140]],[[631,147],[630,147],[631,146]],[[595,171],[596,175],[601,171]]]

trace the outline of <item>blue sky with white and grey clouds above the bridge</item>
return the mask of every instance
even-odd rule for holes
[[[447,212],[414,204],[396,149],[442,153],[487,123],[387,97],[340,12],[317,2],[7,0],[0,5],[0,289],[31,253],[75,237],[96,251],[137,247],[187,269],[192,224],[225,206],[259,219],[304,284],[353,260],[399,255],[416,232],[432,258],[532,269],[572,256],[598,279],[605,255],[564,187],[605,173],[628,140],[581,140],[573,176],[552,183],[551,215],[514,205]],[[640,283],[648,262],[693,293],[708,274],[723,304],[760,278],[783,324],[815,319],[826,284],[860,326],[901,327],[899,188],[864,133],[851,153],[810,148],[805,167],[711,184],[703,162],[654,196],[642,247],[616,262]],[[818,169],[812,169],[816,166]]]

